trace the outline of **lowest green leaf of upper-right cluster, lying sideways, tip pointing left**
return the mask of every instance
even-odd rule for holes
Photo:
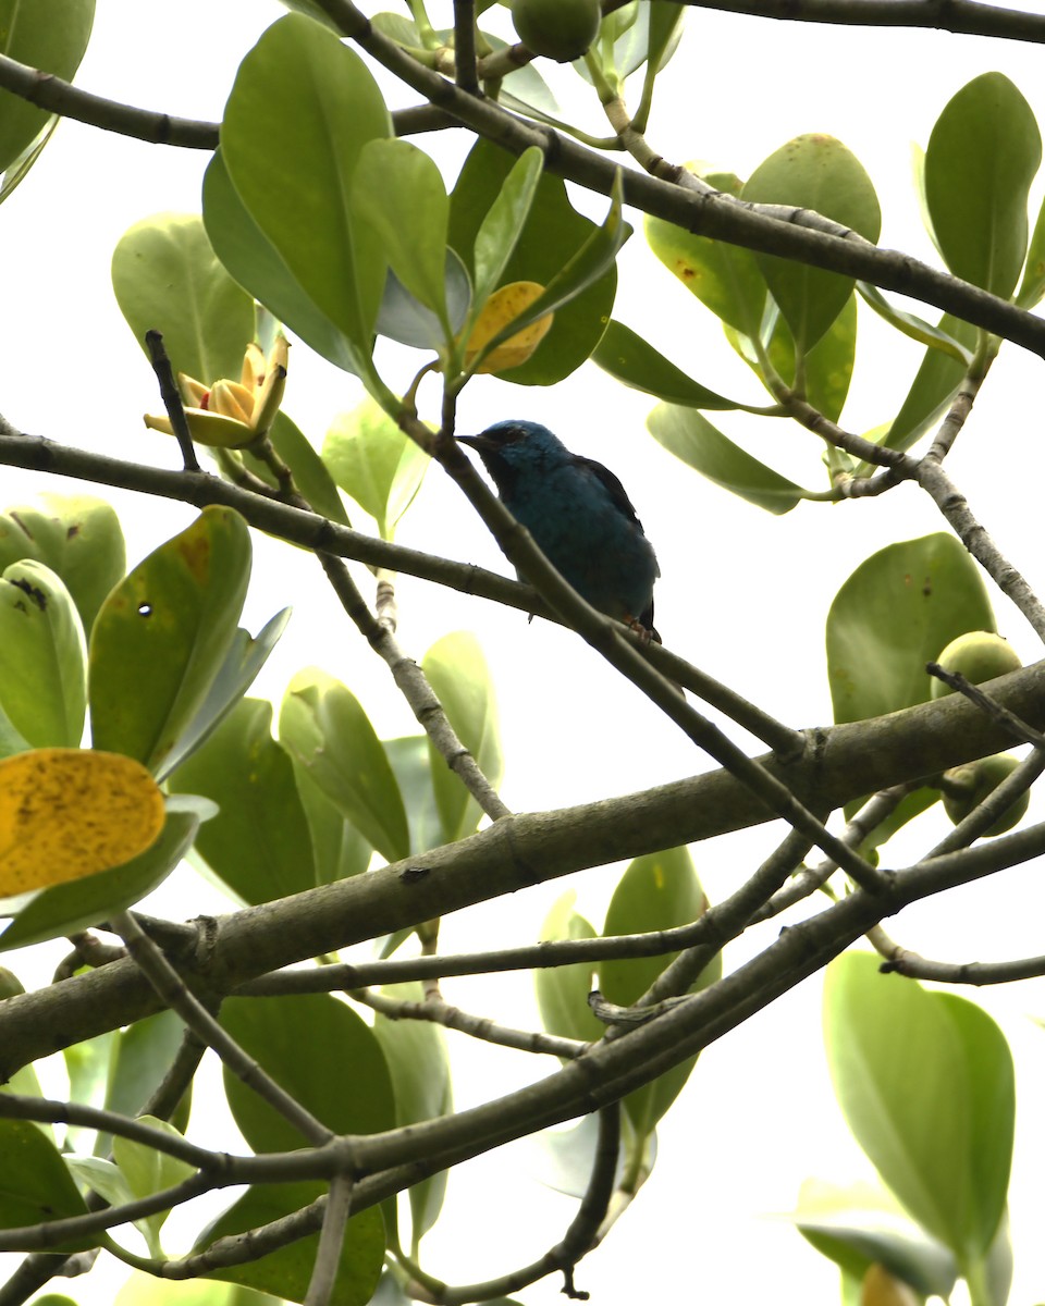
[[[694,409],[658,404],[647,426],[677,458],[758,508],[780,515],[806,496],[801,486],[741,449]]]

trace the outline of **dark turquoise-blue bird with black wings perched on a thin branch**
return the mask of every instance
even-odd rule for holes
[[[661,643],[653,629],[653,546],[624,487],[537,422],[458,435],[482,458],[504,507],[592,607]]]

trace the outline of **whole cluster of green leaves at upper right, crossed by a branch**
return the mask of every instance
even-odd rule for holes
[[[1040,162],[1035,116],[1002,73],[984,73],[957,91],[918,159],[926,229],[946,266],[1023,308],[1032,308],[1045,294],[1045,222],[1038,217],[1028,240],[1027,213]],[[789,141],[747,182],[722,172],[705,174],[703,180],[741,200],[812,210],[843,230],[878,239],[880,210],[871,180],[850,150],[831,136]],[[665,266],[721,319],[726,340],[773,404],[759,407],[717,394],[615,320],[594,359],[619,381],[662,401],[648,426],[665,448],[769,512],[788,512],[803,499],[829,495],[803,488],[760,462],[704,413],[741,410],[801,421],[796,401],[805,401],[837,422],[856,363],[857,296],[925,346],[900,409],[866,432],[884,448],[909,449],[937,422],[963,380],[986,372],[999,347],[997,338],[951,315],[935,324],[924,321],[867,282],[754,253],[660,218],[648,218],[645,232]],[[871,470],[839,449],[831,449],[826,461],[832,486]]]

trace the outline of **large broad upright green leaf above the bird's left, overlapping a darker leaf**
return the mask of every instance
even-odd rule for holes
[[[364,364],[385,259],[374,232],[353,221],[349,196],[363,148],[389,136],[388,110],[363,60],[300,14],[274,22],[247,54],[221,128],[225,167],[244,208]],[[248,290],[269,302],[266,286]]]

